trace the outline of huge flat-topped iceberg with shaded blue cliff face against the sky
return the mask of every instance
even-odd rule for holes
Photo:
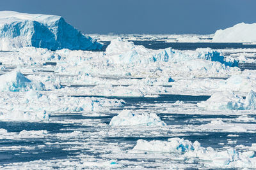
[[[0,50],[35,46],[49,50],[97,50],[100,43],[54,15],[0,11]]]

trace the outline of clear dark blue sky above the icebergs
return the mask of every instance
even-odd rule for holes
[[[256,0],[6,0],[0,10],[61,15],[100,34],[211,34],[256,22]]]

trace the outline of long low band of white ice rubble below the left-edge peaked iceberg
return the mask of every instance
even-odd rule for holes
[[[3,117],[12,120],[19,120],[25,117],[31,120],[44,118],[45,114],[52,115],[54,113],[71,113],[71,112],[102,112],[109,111],[111,107],[124,106],[124,101],[118,99],[104,99],[95,97],[68,97],[51,94],[51,91],[35,91],[28,92],[2,92],[0,94],[0,108]],[[13,117],[13,115],[17,115]],[[47,116],[46,116],[47,117]]]

